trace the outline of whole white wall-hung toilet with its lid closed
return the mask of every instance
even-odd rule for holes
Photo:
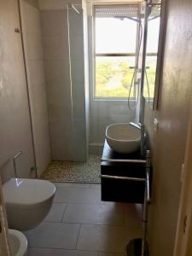
[[[55,185],[45,180],[11,178],[3,183],[9,228],[25,231],[46,217],[55,195]]]

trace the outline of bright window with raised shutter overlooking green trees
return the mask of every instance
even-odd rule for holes
[[[125,99],[136,64],[138,5],[95,6],[95,98]],[[130,19],[127,19],[128,17]],[[131,96],[135,96],[132,90]]]

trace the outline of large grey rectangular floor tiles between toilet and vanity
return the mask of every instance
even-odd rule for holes
[[[123,256],[142,236],[139,205],[101,201],[101,185],[55,183],[55,202],[44,222],[25,232],[28,256]]]

